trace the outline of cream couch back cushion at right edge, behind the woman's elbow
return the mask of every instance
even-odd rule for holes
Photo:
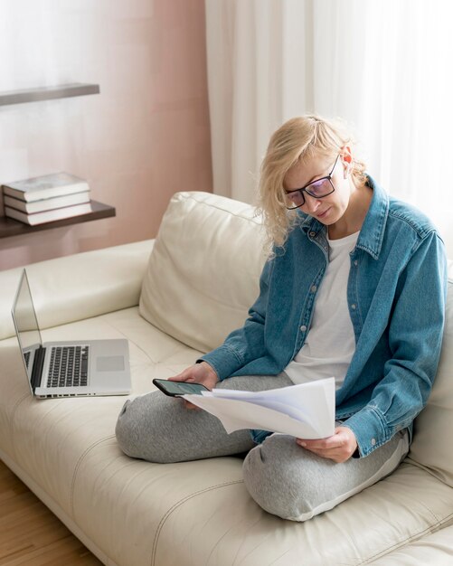
[[[450,264],[453,276],[453,264]],[[453,487],[453,278],[439,370],[428,404],[415,420],[410,458]]]

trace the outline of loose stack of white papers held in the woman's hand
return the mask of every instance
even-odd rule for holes
[[[269,391],[214,389],[184,399],[215,415],[228,433],[260,429],[324,439],[335,430],[333,377]]]

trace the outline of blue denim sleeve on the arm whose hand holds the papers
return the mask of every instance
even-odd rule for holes
[[[354,431],[361,456],[384,444],[429,398],[439,363],[447,294],[443,242],[432,231],[411,255],[395,290],[389,324],[392,357],[370,401],[343,425]]]

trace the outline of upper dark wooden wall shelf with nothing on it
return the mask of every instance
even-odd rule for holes
[[[0,106],[7,104],[23,104],[24,102],[39,102],[40,100],[67,99],[69,97],[99,94],[99,84],[73,82],[54,87],[39,89],[9,90],[0,92]]]

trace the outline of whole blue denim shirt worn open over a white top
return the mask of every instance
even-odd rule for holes
[[[389,197],[371,177],[373,199],[351,252],[347,285],[355,352],[336,391],[336,420],[353,430],[361,457],[408,428],[428,401],[445,318],[443,241],[421,212]],[[260,297],[242,328],[202,359],[221,380],[281,373],[304,344],[328,262],[326,226],[299,213],[267,261]],[[269,432],[254,430],[260,442]]]

